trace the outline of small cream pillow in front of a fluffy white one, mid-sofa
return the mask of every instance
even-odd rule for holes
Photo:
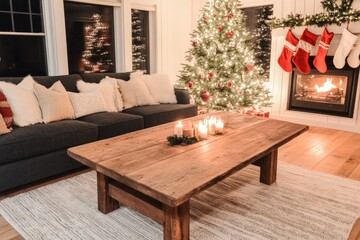
[[[74,108],[75,118],[107,110],[100,90],[88,93],[68,92],[68,94]]]

